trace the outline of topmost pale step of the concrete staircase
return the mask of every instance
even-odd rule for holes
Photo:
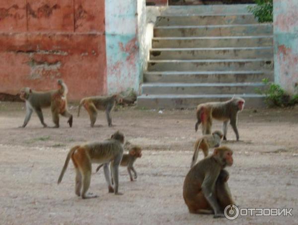
[[[209,5],[168,5],[147,6],[147,14],[165,15],[217,15],[217,14],[245,14],[249,13],[247,6],[254,4],[209,4]]]

